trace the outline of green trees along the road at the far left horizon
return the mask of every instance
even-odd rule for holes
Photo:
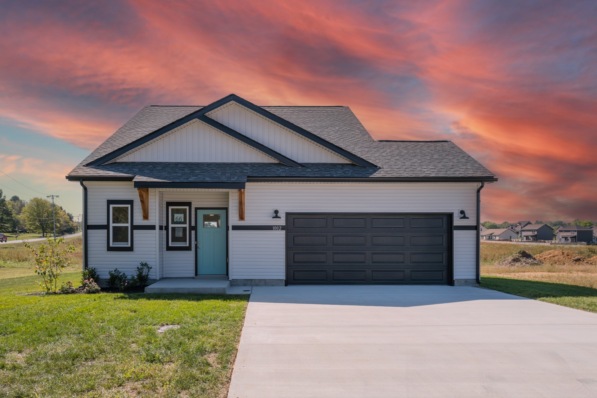
[[[55,211],[56,234],[76,232],[78,224],[73,220],[73,215],[59,205],[56,205]],[[0,232],[41,233],[42,236],[53,234],[52,203],[41,198],[27,201],[16,195],[7,199],[0,189]]]

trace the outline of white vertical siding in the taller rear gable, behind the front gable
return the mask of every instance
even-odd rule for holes
[[[328,149],[313,143],[250,109],[230,103],[207,116],[278,153],[305,163],[350,163]]]

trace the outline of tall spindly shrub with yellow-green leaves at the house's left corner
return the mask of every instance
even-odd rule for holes
[[[44,278],[44,282],[38,282],[39,287],[48,293],[56,293],[58,290],[58,277],[69,265],[69,261],[63,256],[75,251],[75,246],[68,245],[60,250],[64,238],[52,239],[48,237],[46,243],[33,248],[28,242],[24,246],[33,252],[35,259],[35,273]]]

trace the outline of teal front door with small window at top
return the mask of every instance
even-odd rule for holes
[[[226,209],[196,209],[198,275],[226,274]]]

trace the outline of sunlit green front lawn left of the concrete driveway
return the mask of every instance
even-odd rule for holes
[[[0,397],[226,396],[248,296],[26,295],[35,280],[0,279]]]

